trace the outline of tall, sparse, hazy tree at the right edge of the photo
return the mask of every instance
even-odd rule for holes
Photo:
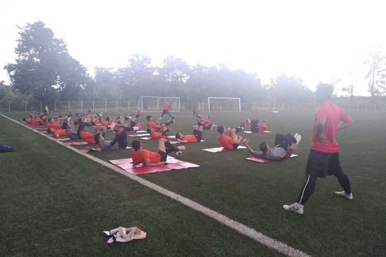
[[[376,49],[370,52],[370,57],[364,61],[364,64],[369,66],[369,72],[364,78],[368,82],[371,102],[374,103],[375,97],[383,95],[386,91],[386,57],[381,49]]]

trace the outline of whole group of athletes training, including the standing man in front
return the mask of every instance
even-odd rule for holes
[[[348,127],[353,124],[352,118],[347,115],[339,106],[330,101],[334,87],[329,84],[320,84],[317,87],[315,97],[320,104],[315,110],[315,120],[312,130],[311,150],[306,164],[306,180],[301,188],[300,195],[297,201],[291,205],[284,205],[283,208],[288,211],[293,211],[298,214],[303,214],[303,208],[308,198],[312,195],[316,180],[318,177],[325,178],[327,175],[335,175],[343,187],[344,191],[335,192],[339,196],[347,199],[353,199],[350,189],[350,183],[347,175],[342,171],[339,161],[339,145],[335,140],[337,130]],[[175,153],[179,155],[185,150],[185,146],[175,147],[167,140],[169,137],[170,126],[176,122],[168,111],[169,103],[164,102],[162,119],[164,115],[169,115],[170,119],[167,122],[153,121],[152,116],[146,117],[147,132],[151,138],[158,139],[157,151],[151,152],[143,148],[141,141],[133,140],[131,146],[131,158],[133,163],[143,163],[144,166],[160,166],[166,163],[167,154]],[[135,133],[139,131],[144,122],[138,122],[141,112],[134,116],[117,116],[102,118],[102,113],[91,114],[91,109],[84,114],[75,114],[75,121],[71,121],[73,115],[69,112],[67,116],[59,115],[52,116],[46,119],[48,108],[44,112],[36,115],[30,115],[29,118],[23,120],[33,125],[44,125],[47,127],[47,133],[52,133],[54,136],[67,136],[70,139],[82,139],[87,143],[99,144],[102,150],[118,150],[126,149],[128,146],[127,133]],[[197,120],[197,125],[194,126],[191,135],[177,133],[175,138],[181,143],[200,142],[204,130],[212,130],[213,123],[210,123],[210,117],[194,112],[194,117]],[[75,125],[78,128],[75,129]],[[244,131],[246,125],[251,125],[251,131],[262,133],[268,129],[269,122],[249,118],[243,120],[237,127],[218,126],[217,131],[219,144],[226,150],[236,150],[242,142],[248,151],[255,157],[269,160],[285,160],[291,156],[296,150],[297,144],[301,139],[299,134],[276,134],[275,147],[270,148],[266,142],[260,143],[260,151],[254,151],[249,140],[237,135],[238,132]],[[87,127],[94,126],[94,133],[90,133]],[[115,138],[113,140],[105,140],[104,132],[106,130],[114,130]]]

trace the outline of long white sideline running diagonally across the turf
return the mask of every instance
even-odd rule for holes
[[[34,132],[39,133],[37,130],[34,130],[33,128],[31,128],[27,125],[24,125],[24,124],[20,123],[19,121],[15,121],[14,119],[11,119],[3,114],[0,114],[0,115],[13,121],[13,122],[19,123],[20,125],[22,125],[24,127],[27,127],[29,130],[32,130]],[[240,234],[246,235],[246,236],[252,238],[253,240],[257,241],[258,243],[265,245],[265,246],[267,246],[275,251],[281,252],[281,253],[286,254],[288,256],[310,256],[301,250],[294,249],[291,246],[286,245],[285,243],[282,243],[282,242],[277,241],[269,236],[266,236],[266,235],[264,235],[256,230],[254,230],[253,228],[247,227],[247,226],[245,226],[237,221],[234,221],[233,219],[226,217],[226,216],[222,215],[221,213],[218,213],[218,212],[216,212],[212,209],[209,209],[203,205],[200,205],[199,203],[196,203],[195,201],[192,201],[192,200],[185,198],[179,194],[176,194],[172,191],[169,191],[165,188],[162,188],[162,187],[160,187],[160,186],[158,186],[158,185],[156,185],[156,184],[154,184],[146,179],[132,175],[132,174],[126,172],[125,170],[118,168],[117,166],[115,166],[113,164],[110,164],[106,161],[98,159],[92,155],[83,153],[83,152],[79,151],[78,149],[73,148],[71,145],[65,145],[65,144],[63,144],[62,141],[57,141],[57,140],[55,140],[55,138],[52,138],[52,137],[45,137],[45,138],[48,138],[48,139],[50,139],[58,144],[61,144],[65,148],[68,148],[68,149],[70,149],[78,154],[83,155],[86,158],[89,158],[95,162],[98,162],[98,163],[102,164],[103,166],[106,166],[106,167],[112,169],[115,172],[118,172],[122,175],[125,175],[125,176],[131,178],[132,180],[135,180],[138,183],[141,183],[142,185],[144,185],[150,189],[153,189],[153,190],[155,190],[163,195],[166,195],[174,200],[177,200],[181,204],[186,205],[186,206],[188,206],[191,209],[194,209],[196,211],[199,211],[199,212],[215,219],[216,221],[220,222],[221,224],[223,224],[229,228],[232,228],[232,229],[236,230],[237,232],[239,232]]]

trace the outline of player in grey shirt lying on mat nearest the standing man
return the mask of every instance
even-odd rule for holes
[[[275,137],[275,147],[270,148],[266,142],[262,142],[260,144],[260,152],[253,151],[251,146],[249,146],[249,140],[245,138],[242,142],[245,146],[247,146],[248,151],[255,157],[281,161],[289,158],[291,154],[296,150],[297,144],[300,142],[301,135],[295,134],[287,134],[283,136],[280,133],[276,134]]]

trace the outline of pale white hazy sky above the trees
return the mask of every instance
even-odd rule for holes
[[[384,1],[42,1],[0,2],[0,67],[14,62],[16,25],[38,20],[94,67],[126,66],[134,52],[154,65],[173,55],[190,65],[227,63],[257,72],[263,83],[279,72],[311,89],[331,73],[367,94],[362,64],[371,49],[386,51]],[[0,81],[8,80],[0,69]],[[358,82],[356,82],[358,81]],[[361,89],[361,91],[359,91]]]

